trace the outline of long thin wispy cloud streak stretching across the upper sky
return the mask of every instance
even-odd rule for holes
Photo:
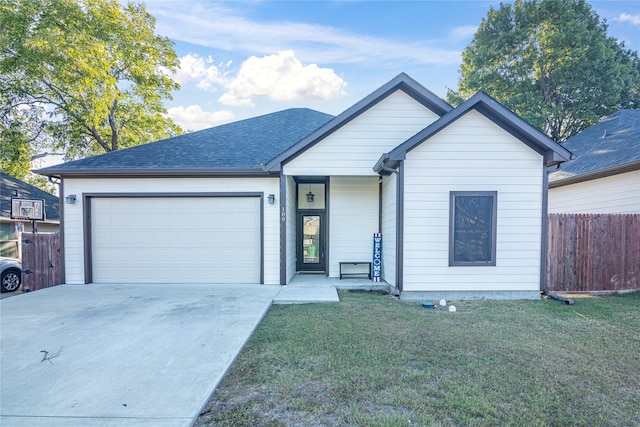
[[[156,29],[174,40],[227,51],[271,54],[294,50],[307,62],[456,65],[460,51],[441,47],[441,40],[393,40],[305,22],[260,22],[244,17],[223,2],[150,1]],[[245,3],[240,2],[242,8]],[[246,11],[244,11],[246,12]]]

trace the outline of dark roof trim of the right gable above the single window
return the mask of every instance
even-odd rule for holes
[[[389,153],[383,154],[375,165],[374,170],[376,172],[390,173],[391,169],[397,168],[400,160],[405,159],[407,152],[422,144],[470,110],[482,113],[531,149],[543,154],[547,166],[566,162],[571,158],[571,152],[566,148],[549,139],[486,93],[478,92]]]

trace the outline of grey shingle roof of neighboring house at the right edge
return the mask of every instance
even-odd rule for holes
[[[620,110],[562,144],[575,160],[549,174],[549,186],[640,169],[640,110]]]

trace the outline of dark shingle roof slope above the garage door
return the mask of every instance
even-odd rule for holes
[[[264,165],[333,116],[293,108],[40,169],[49,176],[265,174]]]

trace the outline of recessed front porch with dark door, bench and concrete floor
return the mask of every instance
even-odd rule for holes
[[[377,175],[285,176],[281,188],[281,198],[286,203],[280,284],[336,289],[389,288],[386,283],[362,278],[339,280],[342,264],[372,259],[373,236],[381,232],[382,226],[382,187]],[[392,253],[389,252],[388,257],[392,257]],[[353,274],[353,270],[362,268],[353,266],[345,273]]]

